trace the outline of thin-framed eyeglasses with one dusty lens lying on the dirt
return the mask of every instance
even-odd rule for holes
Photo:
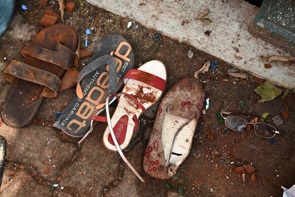
[[[230,116],[224,117],[223,115],[227,114]],[[235,131],[243,131],[247,124],[254,125],[254,132],[255,135],[262,138],[273,138],[276,134],[282,134],[281,132],[277,131],[277,129],[269,124],[266,124],[266,120],[260,116],[260,115],[254,115],[254,114],[243,114],[243,113],[232,113],[232,112],[226,112],[221,111],[220,115],[223,119],[225,119],[225,125],[226,127],[235,130]],[[231,116],[231,115],[248,115],[248,116],[256,116],[262,118],[265,123],[248,123],[245,119],[242,119],[237,116]]]

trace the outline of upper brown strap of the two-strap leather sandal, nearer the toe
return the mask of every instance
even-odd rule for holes
[[[63,69],[70,70],[76,55],[75,52],[62,45],[59,41],[56,42],[55,48],[57,51],[45,49],[27,42],[21,54],[25,57],[30,56],[45,62],[53,63]]]

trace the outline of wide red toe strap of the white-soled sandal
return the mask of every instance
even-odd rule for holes
[[[135,79],[137,81],[146,83],[150,86],[153,86],[162,92],[165,90],[166,81],[158,76],[155,76],[151,73],[138,70],[138,69],[130,69],[123,78],[124,84],[128,79]]]

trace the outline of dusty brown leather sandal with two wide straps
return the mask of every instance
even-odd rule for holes
[[[10,127],[29,125],[44,97],[54,98],[60,77],[70,70],[75,58],[77,32],[56,24],[39,32],[21,51],[22,62],[13,60],[4,70],[12,84],[2,108],[2,119]]]

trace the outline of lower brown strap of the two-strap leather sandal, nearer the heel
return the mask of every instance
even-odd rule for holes
[[[45,86],[44,89],[47,91],[42,91],[40,97],[56,97],[61,84],[61,80],[56,75],[16,60],[7,66],[3,75],[14,87],[18,86],[18,78]]]

